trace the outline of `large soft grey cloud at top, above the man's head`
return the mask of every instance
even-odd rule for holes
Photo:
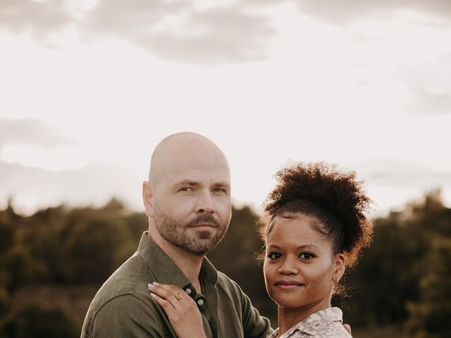
[[[121,37],[171,60],[221,63],[264,57],[273,34],[268,18],[242,4],[196,11],[187,2],[103,1],[89,14],[87,32]]]

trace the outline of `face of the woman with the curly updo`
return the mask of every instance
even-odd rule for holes
[[[278,218],[266,236],[266,291],[280,308],[313,313],[330,307],[333,278],[340,279],[344,256],[333,256],[330,239],[314,230],[314,222],[319,221],[303,214]]]

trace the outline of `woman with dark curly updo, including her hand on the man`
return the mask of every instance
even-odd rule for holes
[[[260,230],[266,244],[266,290],[278,304],[279,327],[270,337],[350,337],[340,308],[332,308],[330,299],[342,291],[345,268],[371,241],[372,224],[365,216],[371,200],[354,172],[326,163],[299,163],[276,177]],[[204,337],[194,302],[168,306],[156,295],[163,296],[165,288],[171,286],[151,287],[152,295],[178,337]],[[190,318],[180,318],[180,308],[188,309]]]

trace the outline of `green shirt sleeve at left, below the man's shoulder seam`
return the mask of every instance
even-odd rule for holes
[[[95,315],[89,338],[166,338],[163,320],[141,299],[126,294],[108,301]]]

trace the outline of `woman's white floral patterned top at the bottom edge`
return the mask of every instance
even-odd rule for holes
[[[267,338],[352,338],[342,325],[340,308],[326,308],[309,315],[279,337],[279,329]]]

